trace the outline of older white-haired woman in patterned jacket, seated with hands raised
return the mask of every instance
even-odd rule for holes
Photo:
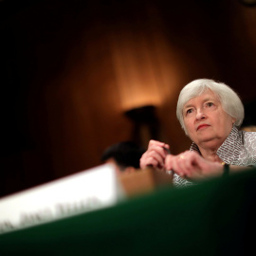
[[[208,79],[190,82],[180,92],[176,115],[192,139],[190,151],[169,155],[168,144],[151,140],[140,158],[141,169],[173,170],[174,185],[183,186],[223,174],[225,165],[234,171],[239,169],[235,166],[245,169],[256,164],[256,133],[239,131],[244,106],[225,83]]]

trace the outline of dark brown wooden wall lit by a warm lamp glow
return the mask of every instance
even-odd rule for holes
[[[101,164],[107,146],[132,139],[123,113],[143,105],[174,154],[188,149],[175,104],[194,79],[255,100],[256,8],[173,2],[0,2],[0,195]]]

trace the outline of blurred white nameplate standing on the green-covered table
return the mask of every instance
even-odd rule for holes
[[[0,233],[99,210],[124,198],[114,166],[72,174],[0,200]]]

